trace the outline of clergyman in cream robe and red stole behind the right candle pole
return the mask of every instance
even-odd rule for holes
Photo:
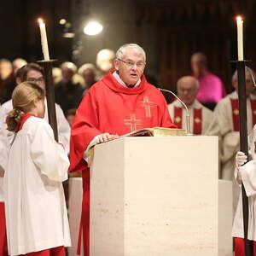
[[[246,95],[247,95],[247,131],[252,131],[256,124],[256,96],[253,95],[253,70],[246,67]],[[239,187],[234,181],[233,172],[235,169],[236,152],[240,148],[239,136],[239,103],[238,103],[238,81],[237,71],[232,76],[232,84],[236,90],[225,96],[218,102],[214,109],[214,119],[218,121],[218,136],[220,144],[221,172],[220,178],[233,180],[233,208],[236,205],[239,195]]]

